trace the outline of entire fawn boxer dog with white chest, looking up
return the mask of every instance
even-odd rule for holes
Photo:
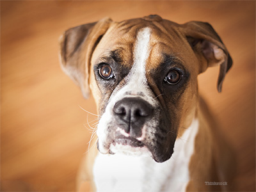
[[[65,31],[60,58],[99,113],[99,153],[90,150],[79,187],[94,180],[97,191],[227,190],[231,152],[198,95],[198,74],[220,66],[221,92],[232,66],[210,24],[102,19]]]

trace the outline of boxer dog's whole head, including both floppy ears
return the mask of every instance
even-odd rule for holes
[[[77,26],[60,45],[63,70],[96,100],[99,151],[150,154],[157,162],[172,156],[177,135],[195,116],[198,74],[220,65],[221,92],[232,65],[211,25],[158,15]]]

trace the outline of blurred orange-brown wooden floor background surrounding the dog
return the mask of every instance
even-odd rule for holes
[[[61,33],[150,14],[209,22],[227,46],[234,65],[223,92],[218,68],[199,88],[235,149],[237,191],[255,191],[255,1],[1,1],[1,191],[75,189],[96,119],[81,108],[96,109],[61,71]]]

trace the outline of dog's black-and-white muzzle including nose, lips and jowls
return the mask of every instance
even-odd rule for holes
[[[99,120],[99,151],[166,161],[172,156],[176,136],[169,131],[172,124],[165,114],[157,102],[140,96],[109,102]]]

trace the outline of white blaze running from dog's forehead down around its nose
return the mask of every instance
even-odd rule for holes
[[[99,138],[99,150],[103,153],[108,153],[109,148],[104,145],[108,140],[108,126],[113,124],[114,117],[113,117],[113,106],[115,105],[118,100],[123,99],[124,97],[141,97],[152,106],[156,105],[156,102],[153,99],[153,94],[150,92],[148,85],[147,85],[147,77],[146,77],[146,70],[145,66],[148,60],[149,52],[150,52],[150,35],[151,30],[150,28],[142,28],[138,31],[136,36],[136,42],[134,45],[134,52],[133,52],[133,60],[134,63],[132,68],[125,77],[127,79],[127,84],[124,85],[118,92],[113,92],[109,99],[109,104],[106,107],[105,113],[102,115],[99,121],[97,136]],[[127,95],[129,93],[129,95]],[[140,93],[143,93],[141,96]],[[141,127],[142,129],[142,127]],[[116,127],[116,131],[120,131],[120,128]],[[121,133],[124,131],[121,131]],[[145,137],[145,130],[144,134],[139,138],[140,141]],[[129,136],[127,134],[123,134],[124,136]],[[108,143],[110,144],[110,143]]]

